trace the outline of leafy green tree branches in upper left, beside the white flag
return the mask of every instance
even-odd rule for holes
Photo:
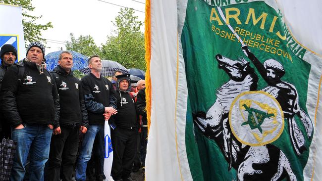
[[[22,7],[22,25],[26,45],[30,42],[39,41],[44,43],[46,41],[46,39],[41,38],[42,31],[53,28],[52,23],[35,23],[36,20],[42,18],[42,16],[32,16],[28,14],[28,12],[35,9],[31,4],[31,0],[0,0],[0,3],[19,5]]]

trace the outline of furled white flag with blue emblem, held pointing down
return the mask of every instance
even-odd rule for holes
[[[113,148],[112,148],[112,141],[110,139],[110,128],[108,125],[108,121],[105,121],[104,126],[104,143],[105,143],[105,153],[104,153],[104,175],[107,181],[113,181],[112,177],[110,176],[110,172],[112,170],[112,163],[113,163]]]

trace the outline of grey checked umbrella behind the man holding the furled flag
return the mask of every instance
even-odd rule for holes
[[[111,60],[102,60],[102,71],[101,71],[101,75],[106,77],[106,76],[112,76],[113,72],[115,70],[120,70],[123,74],[128,74],[129,71],[127,71],[127,69],[114,61]],[[91,72],[91,69],[87,67],[83,68],[80,70],[80,72],[82,72],[83,74],[89,74]]]

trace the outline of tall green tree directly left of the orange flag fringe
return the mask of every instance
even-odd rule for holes
[[[120,9],[113,22],[114,35],[107,36],[107,43],[102,47],[103,59],[117,61],[126,68],[146,70],[142,22],[137,19],[133,9]]]

